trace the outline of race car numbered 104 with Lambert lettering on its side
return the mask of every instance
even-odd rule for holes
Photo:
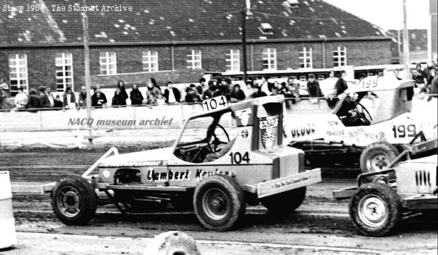
[[[223,96],[207,99],[205,112],[185,121],[172,147],[129,154],[112,148],[82,176],[42,191],[51,193],[53,211],[67,225],[87,223],[96,204],[109,202],[123,213],[150,207],[151,200],[192,207],[216,231],[235,226],[246,204],[292,213],[321,173],[305,169],[302,150],[283,145],[283,106],[283,96],[231,105]]]

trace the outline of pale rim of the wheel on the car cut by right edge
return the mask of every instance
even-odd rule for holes
[[[385,224],[388,218],[387,212],[385,202],[376,195],[365,195],[359,202],[359,219],[372,228]]]

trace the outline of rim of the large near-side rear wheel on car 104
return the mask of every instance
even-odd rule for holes
[[[203,210],[207,217],[219,221],[229,213],[229,199],[220,189],[209,189],[203,195]]]

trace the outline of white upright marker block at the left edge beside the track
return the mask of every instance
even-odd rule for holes
[[[0,171],[0,249],[16,244],[9,171]]]

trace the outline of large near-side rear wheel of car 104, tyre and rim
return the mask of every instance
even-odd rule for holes
[[[245,212],[244,193],[227,175],[210,175],[194,191],[194,212],[201,224],[214,231],[229,230]]]

